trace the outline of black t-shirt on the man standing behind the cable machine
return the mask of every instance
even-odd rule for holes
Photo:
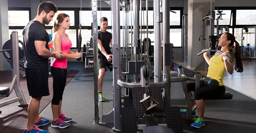
[[[105,51],[107,54],[111,54],[112,52],[110,51],[110,41],[112,39],[112,34],[110,32],[101,32],[98,31],[98,39],[101,41],[102,46],[104,47]],[[98,57],[105,57],[104,55],[101,55],[102,53],[100,50],[98,50]],[[105,57],[106,58],[106,57]]]

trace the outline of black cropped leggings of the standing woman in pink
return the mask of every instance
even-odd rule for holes
[[[50,67],[53,78],[53,98],[52,105],[59,105],[62,100],[64,88],[66,86],[67,69]]]

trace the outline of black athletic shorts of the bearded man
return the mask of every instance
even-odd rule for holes
[[[25,68],[27,86],[29,95],[32,98],[49,96],[48,77],[49,70],[47,69],[32,69]]]

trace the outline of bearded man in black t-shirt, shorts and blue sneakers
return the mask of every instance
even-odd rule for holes
[[[50,37],[42,24],[49,24],[58,11],[52,2],[42,2],[38,6],[37,16],[28,22],[23,29],[23,42],[25,53],[25,71],[31,100],[28,106],[28,123],[24,133],[48,133],[37,127],[47,125],[49,120],[39,117],[40,100],[50,95],[48,87],[49,57],[63,59],[63,52],[50,52],[48,42]]]

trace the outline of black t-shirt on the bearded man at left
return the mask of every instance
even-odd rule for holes
[[[30,21],[23,29],[23,43],[25,53],[25,68],[47,69],[48,58],[41,57],[36,52],[35,41],[45,41],[49,49],[49,34],[39,21]]]

